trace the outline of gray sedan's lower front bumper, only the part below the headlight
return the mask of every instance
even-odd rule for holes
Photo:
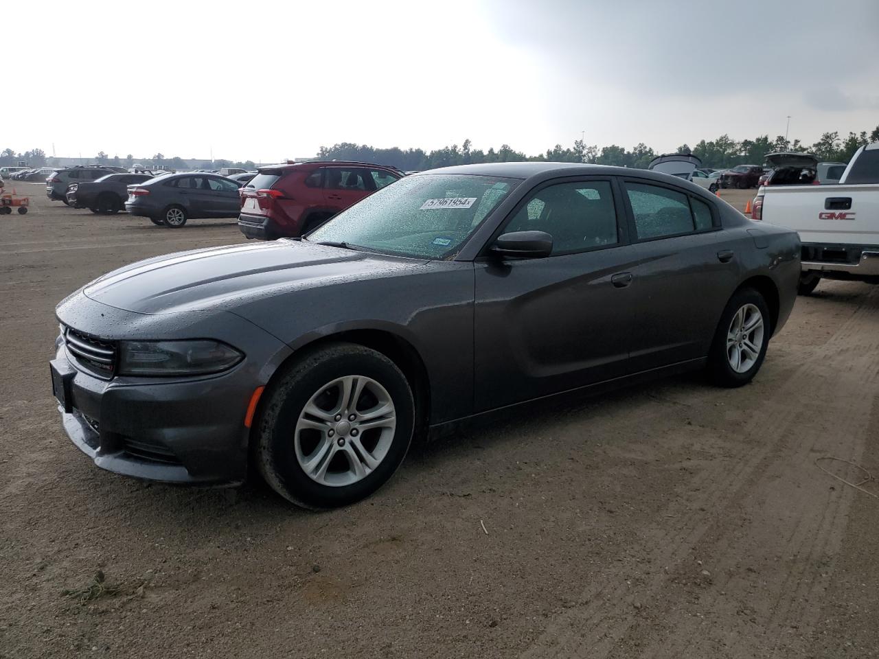
[[[161,482],[244,481],[252,387],[236,386],[236,369],[209,380],[117,386],[77,370],[63,345],[51,368],[54,388],[64,389],[64,431],[97,467]]]

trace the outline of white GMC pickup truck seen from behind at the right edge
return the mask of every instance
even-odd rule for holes
[[[766,186],[761,219],[803,243],[800,293],[822,278],[879,284],[879,142],[861,147],[839,184]]]

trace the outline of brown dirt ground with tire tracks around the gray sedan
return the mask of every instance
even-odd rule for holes
[[[800,298],[748,387],[687,376],[512,413],[315,514],[259,484],[100,471],[55,410],[54,305],[242,242],[235,223],[16,187],[33,207],[0,215],[0,657],[879,656],[879,499],[816,462],[879,474],[879,288]],[[99,597],[64,594],[98,570]]]

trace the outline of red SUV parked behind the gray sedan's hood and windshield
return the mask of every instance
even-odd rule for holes
[[[274,240],[307,234],[339,211],[394,183],[403,172],[338,161],[260,167],[239,192],[238,228],[248,238]]]

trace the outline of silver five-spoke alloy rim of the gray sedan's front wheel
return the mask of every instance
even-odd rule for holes
[[[312,481],[331,487],[360,482],[387,456],[396,431],[388,390],[346,375],[317,390],[294,431],[296,460]]]

